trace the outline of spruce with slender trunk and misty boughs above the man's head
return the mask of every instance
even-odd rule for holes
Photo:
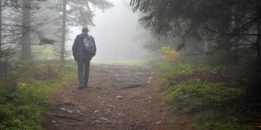
[[[51,8],[63,13],[61,62],[64,62],[66,25],[94,26],[94,9],[105,11],[112,6],[113,4],[107,0],[57,0],[57,3]]]

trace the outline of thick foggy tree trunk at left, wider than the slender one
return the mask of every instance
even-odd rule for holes
[[[22,26],[23,26],[23,36],[22,36],[22,58],[31,59],[31,32],[30,32],[30,0],[23,0],[23,14],[22,14]]]

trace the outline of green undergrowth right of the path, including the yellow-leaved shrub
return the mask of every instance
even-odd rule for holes
[[[181,62],[179,53],[166,47],[161,52],[152,61],[154,81],[165,91],[169,110],[188,115],[194,130],[260,130],[260,113],[252,110],[257,103],[246,99],[250,84],[215,73],[233,68]]]

